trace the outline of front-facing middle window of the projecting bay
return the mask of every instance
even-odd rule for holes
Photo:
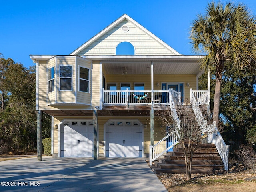
[[[60,90],[72,90],[72,66],[60,66]]]

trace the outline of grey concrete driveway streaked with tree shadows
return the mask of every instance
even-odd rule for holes
[[[1,192],[166,192],[145,158],[25,158],[0,162]],[[7,185],[7,186],[3,186]]]

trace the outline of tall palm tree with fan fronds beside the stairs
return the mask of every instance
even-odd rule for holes
[[[254,68],[256,19],[244,4],[211,2],[206,7],[206,14],[199,14],[192,22],[190,39],[194,52],[206,55],[200,60],[201,69],[216,71],[213,120],[218,126],[220,88],[226,62],[231,61],[237,70]]]

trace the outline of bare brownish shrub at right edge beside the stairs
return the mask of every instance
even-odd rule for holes
[[[240,145],[237,155],[242,160],[246,169],[252,173],[256,173],[256,154],[251,146]]]

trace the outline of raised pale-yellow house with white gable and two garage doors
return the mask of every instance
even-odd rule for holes
[[[52,116],[54,157],[148,157],[166,136],[155,111],[198,90],[201,57],[178,53],[126,14],[70,55],[30,55],[38,149],[44,112]]]

